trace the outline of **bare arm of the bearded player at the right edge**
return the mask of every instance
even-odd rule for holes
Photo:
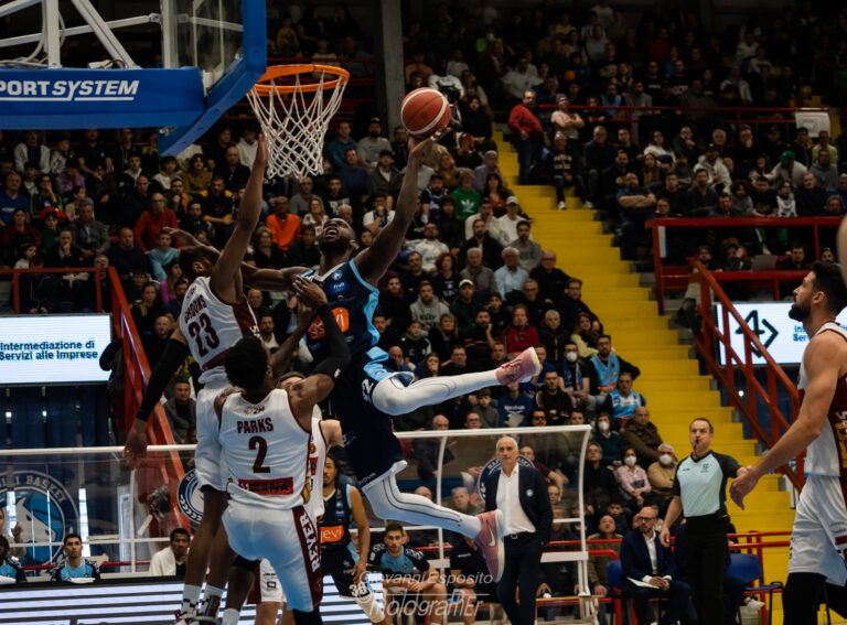
[[[759,479],[797,457],[824,429],[829,405],[833,402],[838,385],[838,369],[843,360],[844,338],[834,332],[815,336],[803,355],[806,368],[806,394],[800,407],[800,413],[791,428],[753,466],[739,473],[729,488],[732,500],[743,509],[744,496],[750,493]]]

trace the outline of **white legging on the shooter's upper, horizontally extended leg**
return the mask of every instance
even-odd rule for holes
[[[404,386],[397,376],[392,376],[376,385],[372,398],[378,410],[397,417],[421,406],[435,406],[498,384],[496,369],[461,376],[424,378],[409,386]]]

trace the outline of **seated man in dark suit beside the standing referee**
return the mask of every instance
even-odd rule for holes
[[[688,604],[691,589],[685,582],[674,579],[676,564],[668,547],[658,540],[654,527],[658,508],[644,506],[635,520],[635,529],[630,531],[621,543],[621,565],[623,568],[623,588],[632,597],[635,617],[639,623],[650,623],[647,617],[650,600],[666,600],[667,610],[662,624],[676,623]],[[653,588],[639,586],[632,580],[650,584]]]

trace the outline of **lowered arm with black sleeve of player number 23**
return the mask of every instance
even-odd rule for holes
[[[180,328],[176,327],[165,344],[162,357],[156,364],[153,370],[150,371],[150,379],[141,398],[141,405],[138,407],[138,412],[132,420],[132,427],[127,433],[127,442],[124,444],[124,459],[130,467],[137,468],[144,460],[147,454],[147,420],[150,418],[150,412],[153,411],[159,399],[161,399],[173,374],[180,368],[190,353],[185,337]]]

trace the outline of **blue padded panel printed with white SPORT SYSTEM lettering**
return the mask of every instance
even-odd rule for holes
[[[0,69],[4,128],[143,128],[193,122],[204,110],[200,68]]]

